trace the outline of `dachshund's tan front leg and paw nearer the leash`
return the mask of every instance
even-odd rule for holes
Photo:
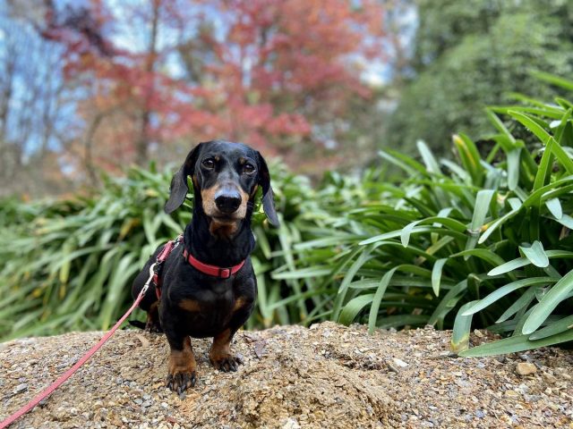
[[[182,393],[193,387],[197,381],[197,363],[191,347],[191,338],[185,335],[183,339],[167,337],[171,352],[167,373],[167,387],[172,391]]]

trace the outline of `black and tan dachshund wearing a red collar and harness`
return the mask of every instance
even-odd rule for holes
[[[167,214],[183,205],[187,177],[194,191],[192,221],[162,267],[160,297],[151,286],[140,304],[148,312],[147,329],[167,335],[167,387],[178,392],[197,379],[190,337],[213,337],[209,357],[219,370],[236,371],[241,363],[229,345],[251,315],[257,296],[249,255],[255,245],[251,216],[259,186],[265,214],[278,225],[269,169],[251,147],[222,140],[194,147],[173,176]],[[163,247],[135,278],[133,297],[139,295]]]

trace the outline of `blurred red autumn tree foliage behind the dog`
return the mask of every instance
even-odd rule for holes
[[[365,105],[363,63],[383,53],[381,4],[359,6],[98,0],[49,8],[41,35],[64,46],[66,84],[81,88],[85,126],[73,156],[88,172],[115,171],[120,160],[146,164],[154,145],[188,139],[221,136],[286,155],[338,139],[347,123],[329,130],[331,118],[356,99]]]

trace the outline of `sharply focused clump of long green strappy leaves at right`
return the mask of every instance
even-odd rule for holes
[[[537,78],[573,89],[568,80]],[[436,159],[422,142],[422,162],[382,152],[408,179],[366,182],[380,198],[341,216],[336,232],[295,245],[315,255],[320,280],[319,268],[305,266],[274,277],[327,290],[321,316],[343,324],[453,325],[452,349],[464,356],[573,341],[573,105],[555,101],[488,110],[497,133],[484,157],[463,134],[453,139],[458,163]],[[501,118],[543,146],[528,150]],[[478,326],[511,337],[464,351],[474,315]]]

